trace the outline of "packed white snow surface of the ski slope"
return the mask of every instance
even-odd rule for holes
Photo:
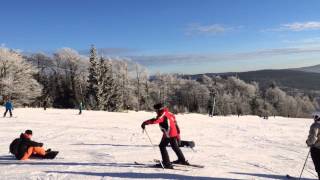
[[[3,110],[3,109],[2,109]],[[4,110],[3,110],[4,111]],[[183,140],[193,140],[194,150],[182,148],[186,159],[205,168],[180,170],[145,168],[160,159],[158,125],[141,123],[152,112],[32,109],[14,110],[14,118],[0,119],[0,179],[285,179],[298,177],[308,153],[305,140],[312,119],[256,116],[210,118],[179,114]],[[33,140],[59,150],[54,160],[17,161],[8,153],[10,142],[26,129]],[[171,160],[176,156],[168,148]],[[316,179],[311,158],[304,179]]]

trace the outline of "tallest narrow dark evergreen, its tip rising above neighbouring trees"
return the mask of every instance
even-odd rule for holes
[[[98,64],[97,64],[97,50],[92,45],[90,49],[90,65],[89,65],[89,76],[88,76],[88,87],[87,87],[87,100],[88,105],[91,109],[98,109]]]

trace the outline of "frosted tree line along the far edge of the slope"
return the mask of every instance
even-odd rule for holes
[[[1,101],[16,105],[77,108],[103,111],[152,110],[162,102],[175,113],[308,117],[319,108],[317,97],[288,95],[275,84],[260,88],[231,77],[186,78],[179,74],[149,75],[145,67],[129,60],[89,56],[70,48],[53,54],[23,55],[0,48]]]

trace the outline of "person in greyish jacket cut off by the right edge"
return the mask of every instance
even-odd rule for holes
[[[320,117],[319,115],[314,116],[314,123],[310,126],[309,136],[306,141],[310,147],[312,161],[318,178],[320,179]]]

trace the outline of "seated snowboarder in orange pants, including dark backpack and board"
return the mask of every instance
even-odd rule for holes
[[[44,159],[53,159],[58,151],[47,151],[43,148],[43,143],[31,140],[32,130],[26,130],[21,133],[20,138],[13,140],[10,144],[10,152],[15,155],[18,160],[28,160],[30,157],[38,157]]]

